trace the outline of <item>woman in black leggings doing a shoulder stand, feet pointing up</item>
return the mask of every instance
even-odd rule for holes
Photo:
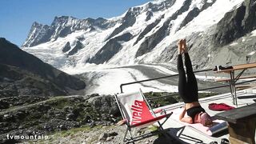
[[[186,73],[183,67],[182,54],[185,57]],[[190,55],[186,48],[186,39],[178,41],[178,93],[183,102],[185,102],[184,110],[180,114],[179,119],[187,123],[202,123],[203,126],[212,126],[213,122],[210,115],[202,108],[198,102],[198,82],[194,76]],[[186,78],[187,74],[187,78]],[[187,117],[185,117],[187,114]]]

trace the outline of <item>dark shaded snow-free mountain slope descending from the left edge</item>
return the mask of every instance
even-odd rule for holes
[[[66,95],[85,82],[42,62],[0,38],[0,98],[19,95]]]

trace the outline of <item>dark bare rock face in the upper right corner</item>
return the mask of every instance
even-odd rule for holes
[[[225,46],[246,33],[256,29],[256,5],[254,0],[246,0],[238,9],[225,14],[218,22],[213,41],[215,46]]]

